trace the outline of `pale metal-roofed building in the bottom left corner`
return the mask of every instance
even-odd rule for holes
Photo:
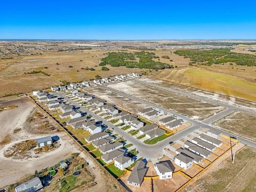
[[[37,191],[39,189],[42,189],[43,185],[41,180],[38,177],[35,177],[34,179],[31,179],[25,183],[22,183],[21,185],[15,187],[16,192],[21,191]]]

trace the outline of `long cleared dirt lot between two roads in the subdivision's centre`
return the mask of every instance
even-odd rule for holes
[[[137,82],[122,82],[109,85],[109,87],[155,103],[166,109],[171,109],[179,114],[187,114],[188,117],[199,120],[210,117],[224,109],[221,106],[198,101],[177,93],[157,89],[149,85],[142,85]]]

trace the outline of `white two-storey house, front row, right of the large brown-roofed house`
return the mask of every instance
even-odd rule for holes
[[[159,162],[154,165],[156,173],[159,175],[159,179],[171,179],[172,173],[175,169],[171,161]]]

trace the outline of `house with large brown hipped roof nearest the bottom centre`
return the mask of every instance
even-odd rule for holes
[[[132,185],[134,187],[140,187],[144,176],[147,172],[146,163],[143,161],[138,161],[135,166],[133,167],[133,170],[127,179],[127,184]]]

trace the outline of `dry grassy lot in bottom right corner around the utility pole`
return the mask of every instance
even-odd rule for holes
[[[256,150],[245,147],[231,163],[230,153],[218,159],[183,191],[255,191]]]

